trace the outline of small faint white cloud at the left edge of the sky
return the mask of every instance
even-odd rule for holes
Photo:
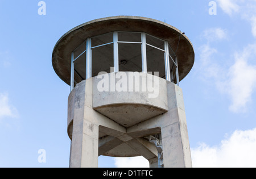
[[[17,115],[17,110],[9,102],[8,94],[0,93],[0,119],[3,119],[5,117],[16,118]]]

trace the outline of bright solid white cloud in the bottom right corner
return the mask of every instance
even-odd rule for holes
[[[256,128],[236,130],[221,141],[220,145],[210,147],[201,143],[191,148],[193,167],[256,167]]]

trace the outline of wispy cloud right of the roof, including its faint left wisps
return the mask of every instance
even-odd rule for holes
[[[200,78],[210,81],[222,94],[231,101],[229,110],[234,113],[245,113],[251,97],[256,90],[256,44],[250,44],[243,51],[236,51],[231,59],[233,65],[225,66],[218,57],[218,49],[212,44],[227,39],[228,32],[222,28],[205,30],[202,37],[207,43],[199,48]],[[209,38],[209,36],[211,36]]]

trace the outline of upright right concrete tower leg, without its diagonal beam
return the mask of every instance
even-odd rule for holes
[[[169,111],[161,127],[164,167],[192,167],[182,90],[168,83],[167,91]]]

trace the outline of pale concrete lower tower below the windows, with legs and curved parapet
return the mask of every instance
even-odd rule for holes
[[[117,72],[88,78],[69,94],[69,166],[98,167],[98,156],[104,155],[143,156],[150,167],[192,167],[181,88],[138,72],[137,81],[133,76],[120,85],[125,74],[131,77],[130,72]],[[109,86],[102,83],[104,78]],[[154,95],[147,88],[150,80]]]

